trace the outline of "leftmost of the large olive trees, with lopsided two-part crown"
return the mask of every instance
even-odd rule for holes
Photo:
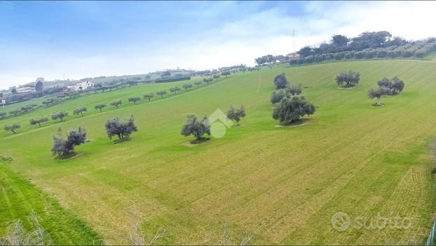
[[[68,132],[67,139],[53,136],[53,148],[51,152],[55,156],[70,156],[74,153],[74,146],[79,146],[86,142],[86,130],[79,128]]]

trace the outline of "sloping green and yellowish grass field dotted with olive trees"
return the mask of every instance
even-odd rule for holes
[[[360,72],[356,88],[336,86],[336,74],[345,69]],[[272,118],[273,78],[281,72],[291,83],[307,87],[303,95],[318,107],[304,125],[278,127]],[[404,91],[383,97],[385,106],[372,107],[367,90],[384,76],[395,75],[404,81]],[[250,238],[250,244],[416,245],[426,239],[435,217],[434,163],[428,152],[436,134],[435,60],[265,68],[194,86],[180,95],[127,103],[127,97],[174,85],[86,95],[0,121],[1,126],[22,125],[15,135],[0,133],[0,156],[13,158],[0,163],[0,201],[10,201],[1,207],[0,233],[9,221],[34,208],[43,219],[62,225],[54,237],[54,243],[62,244],[100,237],[129,243],[121,233],[128,235],[137,221],[147,238],[165,229],[166,237],[156,241],[161,244],[240,244]],[[123,107],[109,106],[102,113],[93,109],[112,100],[123,100]],[[186,146],[192,137],[180,135],[180,128],[187,114],[226,111],[231,104],[245,106],[242,127]],[[88,113],[72,116],[81,106]],[[70,114],[63,123],[50,121],[42,128],[28,123],[60,110]],[[139,132],[128,142],[113,144],[104,123],[130,115]],[[65,134],[79,126],[86,128],[90,142],[76,147],[74,158],[53,158],[57,129]],[[22,190],[19,201],[6,192],[15,186]],[[55,204],[55,214],[41,209],[45,200]],[[352,219],[398,214],[411,218],[411,226],[351,226],[339,232],[331,222],[336,212]],[[75,222],[64,219],[73,214]]]

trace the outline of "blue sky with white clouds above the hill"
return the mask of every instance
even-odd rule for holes
[[[435,11],[436,1],[0,1],[0,89],[250,66],[333,34],[424,39],[436,36]]]

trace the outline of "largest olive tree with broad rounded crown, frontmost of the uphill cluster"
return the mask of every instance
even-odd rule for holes
[[[273,118],[280,123],[294,123],[305,115],[315,113],[315,106],[306,100],[302,95],[283,97],[278,104],[275,104]]]

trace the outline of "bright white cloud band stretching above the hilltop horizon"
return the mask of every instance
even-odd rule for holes
[[[305,45],[328,41],[332,34],[356,36],[365,31],[387,30],[406,39],[436,36],[433,27],[435,1],[421,2],[308,2],[299,16],[281,8],[261,11],[219,29],[210,29],[202,39],[175,40],[159,50],[144,50],[125,43],[122,52],[108,51],[89,57],[43,54],[47,59],[29,62],[11,57],[15,69],[1,71],[0,87],[48,79],[100,75],[142,74],[166,68],[212,69],[232,64],[254,64],[266,54],[286,54]],[[297,39],[292,40],[292,31]],[[293,46],[295,41],[295,46]],[[41,55],[41,54],[39,54]],[[34,55],[35,58],[39,55]],[[27,57],[27,60],[29,59]],[[6,61],[10,62],[10,61]]]

